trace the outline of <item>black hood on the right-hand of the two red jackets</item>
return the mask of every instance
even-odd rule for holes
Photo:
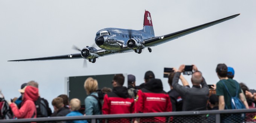
[[[144,85],[144,88],[152,92],[162,92],[163,84],[160,79],[151,79]]]

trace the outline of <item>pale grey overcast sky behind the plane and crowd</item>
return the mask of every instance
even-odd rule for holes
[[[6,99],[20,96],[22,83],[35,80],[41,97],[52,101],[64,93],[64,77],[127,73],[139,85],[146,71],[162,80],[164,67],[195,64],[207,84],[218,81],[215,68],[225,63],[235,69],[235,79],[256,88],[255,0],[0,0],[0,88]],[[77,53],[94,44],[102,28],[141,30],[144,10],[151,13],[155,36],[173,33],[230,15],[238,17],[179,39],[144,50],[105,56],[96,63],[83,59],[7,62],[14,59]],[[97,47],[98,48],[98,47]],[[190,76],[186,76],[190,83]],[[81,93],[82,94],[82,93]]]

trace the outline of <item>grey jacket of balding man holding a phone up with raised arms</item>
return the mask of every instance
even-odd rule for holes
[[[178,84],[180,72],[176,72],[172,80],[172,86],[180,94],[183,99],[182,111],[200,111],[206,110],[207,100],[209,96],[209,87],[205,80],[201,86],[193,86],[192,88],[184,87]]]

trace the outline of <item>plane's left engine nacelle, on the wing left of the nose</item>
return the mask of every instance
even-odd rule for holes
[[[81,50],[81,56],[85,59],[98,58],[99,55],[96,53],[98,50],[94,47],[85,47]]]

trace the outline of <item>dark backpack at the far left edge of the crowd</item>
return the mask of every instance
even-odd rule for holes
[[[13,119],[14,115],[5,98],[0,98],[0,119]]]

